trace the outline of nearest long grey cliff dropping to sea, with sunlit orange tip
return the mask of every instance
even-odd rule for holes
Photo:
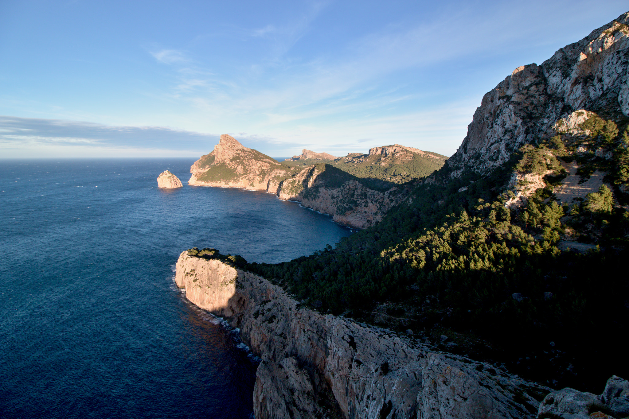
[[[550,391],[389,330],[302,308],[264,278],[231,266],[218,274],[217,264],[182,253],[177,285],[193,303],[217,296],[210,311],[228,317],[262,359],[257,419],[533,418]],[[234,287],[224,291],[223,283]]]

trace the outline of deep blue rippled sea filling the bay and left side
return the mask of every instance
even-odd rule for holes
[[[350,230],[195,159],[0,160],[0,417],[249,418],[257,362],[174,285],[181,251],[288,261]],[[169,169],[183,188],[157,188]]]

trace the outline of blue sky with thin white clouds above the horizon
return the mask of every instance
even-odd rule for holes
[[[0,157],[452,155],[482,95],[626,1],[0,2]]]

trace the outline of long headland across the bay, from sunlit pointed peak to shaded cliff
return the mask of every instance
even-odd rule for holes
[[[386,152],[399,155],[396,150],[407,148],[396,146],[394,149]],[[304,155],[309,155],[306,152],[309,153],[304,150]],[[382,154],[382,150],[379,153]],[[408,151],[409,155],[413,153]],[[189,185],[265,190],[279,199],[301,202],[304,207],[332,215],[339,224],[358,229],[382,220],[391,207],[402,202],[404,192],[408,192],[408,187],[386,182],[372,185],[373,182],[326,164],[305,168],[282,165],[226,134],[221,135],[214,151],[202,156],[190,171]]]

